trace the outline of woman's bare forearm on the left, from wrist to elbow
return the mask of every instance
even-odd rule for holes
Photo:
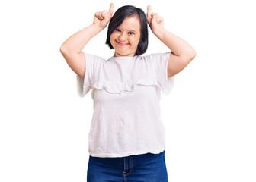
[[[60,48],[61,52],[66,52],[67,54],[78,54],[82,52],[82,49],[84,49],[90,39],[101,32],[101,30],[103,30],[103,28],[96,24],[85,27],[70,36],[69,39],[62,44]]]

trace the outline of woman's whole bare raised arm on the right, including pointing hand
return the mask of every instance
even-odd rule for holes
[[[178,74],[193,60],[197,54],[196,51],[183,39],[164,29],[164,19],[156,13],[151,13],[150,5],[148,6],[147,20],[155,36],[171,50],[168,60],[168,77]]]

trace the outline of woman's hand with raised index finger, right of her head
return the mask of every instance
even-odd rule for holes
[[[164,19],[159,17],[156,13],[151,13],[151,6],[147,8],[147,21],[149,27],[155,35],[159,35],[164,30]]]

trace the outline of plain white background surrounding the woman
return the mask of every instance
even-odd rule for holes
[[[162,95],[172,182],[256,181],[253,1],[117,1],[165,18],[165,29],[197,51]],[[79,98],[59,47],[92,23],[105,0],[0,3],[0,181],[86,181],[91,92]],[[107,30],[85,52],[109,58]],[[147,54],[168,52],[149,33]]]

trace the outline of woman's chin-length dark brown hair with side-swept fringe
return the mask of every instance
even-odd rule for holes
[[[110,35],[114,32],[114,30],[120,26],[120,24],[123,23],[123,20],[126,19],[126,17],[133,17],[137,16],[139,18],[140,23],[140,40],[139,44],[136,50],[135,55],[142,55],[146,52],[148,49],[148,24],[146,20],[146,14],[142,9],[136,8],[131,5],[123,6],[114,13],[113,17],[110,20],[110,23],[108,25],[107,29],[107,40],[106,44],[110,47],[110,49],[113,49],[113,46],[110,43]]]

